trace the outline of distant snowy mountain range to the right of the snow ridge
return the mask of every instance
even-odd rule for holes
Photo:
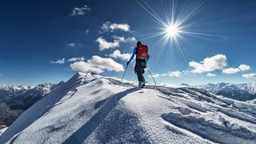
[[[222,95],[239,101],[250,101],[256,98],[256,82],[243,84],[230,84],[224,82],[218,84],[209,83],[197,87],[210,91],[213,94]]]

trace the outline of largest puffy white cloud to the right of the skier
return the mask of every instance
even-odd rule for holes
[[[193,67],[193,73],[204,73],[208,71],[221,70],[226,66],[226,56],[217,54],[210,58],[205,58],[202,62],[189,62],[189,66]]]

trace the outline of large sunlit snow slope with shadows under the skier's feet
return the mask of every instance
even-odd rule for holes
[[[256,105],[188,86],[78,73],[26,110],[0,143],[255,143]]]

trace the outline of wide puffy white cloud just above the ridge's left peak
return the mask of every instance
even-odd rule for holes
[[[70,68],[75,71],[82,72],[95,72],[100,74],[107,71],[123,71],[123,66],[118,62],[115,62],[112,58],[101,58],[94,55],[91,59],[86,62],[74,62],[70,64]]]

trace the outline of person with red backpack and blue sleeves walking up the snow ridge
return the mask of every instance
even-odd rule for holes
[[[134,48],[134,52],[130,57],[130,60],[127,62],[129,65],[130,61],[134,59],[134,55],[136,54],[136,61],[134,71],[138,76],[138,86],[145,86],[145,78],[143,77],[144,69],[146,68],[146,62],[149,60],[150,55],[148,54],[148,48],[146,45],[142,45],[142,42],[137,42],[137,46]]]

